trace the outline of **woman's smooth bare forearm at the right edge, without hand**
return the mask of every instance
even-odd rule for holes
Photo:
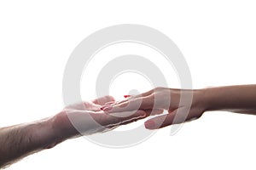
[[[232,111],[256,115],[256,85],[205,88],[206,111]]]

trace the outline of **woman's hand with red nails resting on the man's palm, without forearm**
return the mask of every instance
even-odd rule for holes
[[[154,88],[146,93],[102,106],[108,113],[120,111],[167,110],[168,114],[156,116],[145,122],[148,129],[157,129],[172,124],[199,118],[206,111],[202,90]]]

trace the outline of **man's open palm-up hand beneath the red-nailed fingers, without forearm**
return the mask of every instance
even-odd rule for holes
[[[54,117],[53,126],[60,139],[68,139],[77,135],[102,133],[120,125],[135,122],[150,114],[150,111],[119,111],[106,114],[102,105],[113,103],[111,96],[69,105]]]

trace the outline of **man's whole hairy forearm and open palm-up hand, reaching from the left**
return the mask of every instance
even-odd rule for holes
[[[106,114],[101,107],[107,102],[114,102],[113,97],[105,96],[69,105],[55,116],[37,122],[0,128],[0,167],[7,167],[25,156],[82,134],[103,133],[119,125],[135,122],[152,112],[140,110]]]

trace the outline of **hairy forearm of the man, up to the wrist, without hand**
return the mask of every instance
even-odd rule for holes
[[[0,167],[5,167],[61,142],[53,128],[53,118],[0,128]]]

